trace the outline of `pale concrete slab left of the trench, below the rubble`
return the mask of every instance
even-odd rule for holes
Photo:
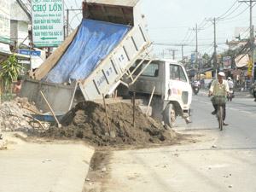
[[[3,138],[7,148],[0,150],[0,164],[5,163],[0,167],[0,191],[33,192],[38,187],[35,183],[40,183],[42,192],[81,192],[84,189],[95,148],[67,140],[29,141],[19,132],[3,132]]]

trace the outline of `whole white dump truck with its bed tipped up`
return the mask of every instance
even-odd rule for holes
[[[21,96],[46,112],[45,97],[60,114],[76,102],[102,100],[120,84],[148,102],[155,87],[153,117],[171,127],[178,115],[188,121],[192,92],[187,74],[176,61],[154,58],[150,45],[137,0],[87,0],[79,27],[30,73]]]

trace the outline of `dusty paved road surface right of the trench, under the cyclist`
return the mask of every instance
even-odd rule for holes
[[[106,191],[255,192],[256,103],[227,103],[229,126],[218,130],[207,96],[194,96],[193,123],[177,119],[176,131],[200,142],[113,152]]]

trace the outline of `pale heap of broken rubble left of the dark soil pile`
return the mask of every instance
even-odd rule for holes
[[[26,131],[32,129],[30,113],[38,109],[28,102],[27,98],[17,97],[11,102],[3,102],[0,106],[0,123],[2,131]]]

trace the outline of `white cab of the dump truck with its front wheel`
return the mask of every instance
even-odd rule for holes
[[[143,65],[147,63],[143,61]],[[183,65],[173,60],[154,59],[131,85],[130,91],[145,96],[150,95],[154,87],[152,116],[171,127],[177,116],[182,116],[188,123],[192,89]]]

